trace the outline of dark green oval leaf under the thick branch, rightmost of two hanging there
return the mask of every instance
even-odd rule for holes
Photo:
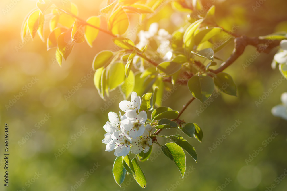
[[[233,95],[237,96],[236,94],[236,85],[232,79],[232,77],[229,74],[226,74],[224,72],[220,72],[216,74],[216,76],[213,78],[214,84],[216,87],[228,94],[228,95]]]

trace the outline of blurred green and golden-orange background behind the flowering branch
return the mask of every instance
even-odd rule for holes
[[[93,77],[89,74],[96,53],[113,48],[110,37],[100,33],[93,48],[86,43],[77,44],[67,62],[64,61],[60,68],[54,60],[55,50],[46,51],[46,45],[38,36],[33,42],[28,40],[21,46],[21,24],[26,14],[35,7],[35,1],[16,1],[11,10],[4,14],[2,10],[6,10],[11,2],[0,2],[0,141],[4,142],[4,123],[7,123],[10,153],[9,188],[3,186],[1,181],[0,190],[73,190],[72,187],[77,188],[75,184],[82,178],[84,182],[75,190],[143,190],[130,176],[126,176],[122,188],[114,182],[112,166],[115,156],[113,152],[105,152],[105,145],[102,143],[105,133],[102,126],[108,121],[107,114],[109,111],[119,111],[118,103],[123,97],[117,90],[112,92],[110,98],[117,95],[119,99],[102,112],[100,108],[108,104],[109,100],[104,101],[99,97]],[[78,5],[79,16],[84,19],[96,15],[106,3],[92,0],[72,2]],[[213,1],[206,0],[202,4],[210,2]],[[252,7],[256,6],[256,2],[262,4],[258,9]],[[239,27],[236,34],[261,36],[287,31],[287,2],[284,0],[226,0],[215,1],[214,4],[218,24],[226,30],[237,24]],[[186,14],[173,13],[170,5],[167,5],[141,29],[147,30],[149,24],[156,21],[160,28],[172,33],[185,19]],[[228,58],[232,49],[233,46],[230,45],[221,50],[220,56]],[[189,139],[197,151],[198,162],[195,163],[187,156],[187,172],[182,179],[174,163],[154,145],[150,160],[140,162],[147,179],[145,190],[261,191],[273,183],[276,187],[272,190],[286,190],[287,177],[284,176],[285,179],[279,181],[279,184],[275,178],[282,175],[287,168],[287,122],[272,116],[270,112],[273,106],[280,103],[280,95],[287,90],[287,80],[274,85],[281,78],[278,69],[272,70],[270,67],[277,50],[274,49],[268,55],[260,54],[250,66],[244,68],[246,60],[255,55],[255,48],[247,47],[236,63],[226,70],[236,82],[238,97],[215,93],[214,101],[198,115],[196,110],[200,111],[201,106],[205,107],[207,103],[202,104],[196,100],[187,108],[182,118],[199,124],[204,133],[202,143]],[[36,83],[32,81],[33,78],[38,79]],[[78,83],[82,86],[66,101],[64,96]],[[256,106],[255,101],[269,88],[273,92]],[[17,96],[20,92],[23,93],[22,97]],[[7,109],[5,105],[9,105],[15,97],[19,99]],[[190,97],[187,88],[180,86],[163,105],[180,110]],[[51,117],[48,119],[45,115]],[[242,123],[228,133],[226,129],[232,127],[236,120]],[[82,127],[87,129],[81,132]],[[171,131],[174,130],[167,131],[166,135]],[[31,132],[34,133],[31,135]],[[278,133],[274,139],[269,138],[272,132]],[[226,135],[226,139],[210,152],[209,147],[222,135]],[[188,139],[185,135],[182,136]],[[272,141],[264,147],[265,143],[262,142],[268,138]],[[59,154],[59,149],[69,141],[72,144],[56,159],[55,153]],[[162,139],[160,142],[164,141]],[[1,155],[4,152],[3,147],[0,146]],[[259,154],[253,154],[259,147],[263,147],[263,150]],[[245,159],[249,160],[249,155],[252,154],[255,157],[247,165]],[[2,159],[3,157],[0,159],[0,171],[3,175]],[[97,169],[93,172],[91,169],[94,164]],[[87,174],[87,171],[93,173]],[[35,173],[39,173],[39,177]],[[232,180],[228,185],[225,184],[226,178]]]

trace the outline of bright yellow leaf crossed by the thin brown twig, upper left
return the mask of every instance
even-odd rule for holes
[[[92,26],[100,28],[100,17],[92,16],[86,20]],[[93,46],[93,41],[98,36],[99,30],[89,25],[85,26],[85,39],[90,47]]]

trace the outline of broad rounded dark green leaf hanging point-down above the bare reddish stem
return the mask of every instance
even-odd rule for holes
[[[210,76],[193,76],[188,80],[187,86],[191,94],[202,103],[211,96],[214,90],[214,82]]]

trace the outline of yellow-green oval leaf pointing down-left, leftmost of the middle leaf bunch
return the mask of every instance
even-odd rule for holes
[[[106,64],[110,63],[114,56],[114,53],[110,50],[102,50],[96,54],[93,60],[93,68],[94,70],[97,70],[98,68],[101,68],[105,66]]]

